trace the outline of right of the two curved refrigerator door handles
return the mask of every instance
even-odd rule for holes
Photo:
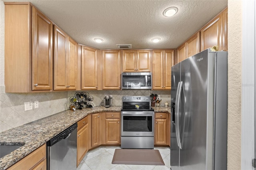
[[[182,141],[184,137],[184,130],[185,130],[185,94],[184,94],[184,86],[183,82],[180,83],[180,95],[181,95],[181,105],[180,105],[180,149],[182,149]]]

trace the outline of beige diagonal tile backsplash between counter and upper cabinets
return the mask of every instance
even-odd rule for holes
[[[15,128],[32,121],[59,113],[69,109],[70,97],[77,91],[48,92],[48,93],[5,93],[4,86],[0,86],[0,132]],[[170,91],[151,90],[102,90],[84,91],[88,92],[94,99],[92,104],[100,106],[105,95],[112,95],[112,105],[122,106],[122,96],[146,96],[151,93],[161,95],[164,106],[167,101],[170,103]],[[24,111],[24,102],[39,101],[39,108]],[[103,105],[103,103],[102,103]]]

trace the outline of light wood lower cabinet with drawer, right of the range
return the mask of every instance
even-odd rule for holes
[[[158,112],[155,114],[156,116],[156,120],[155,120],[155,145],[168,145],[169,144],[169,140],[168,138],[168,113],[164,113],[164,112]]]

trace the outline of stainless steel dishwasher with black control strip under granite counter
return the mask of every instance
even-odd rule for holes
[[[48,142],[47,170],[76,170],[77,123]]]

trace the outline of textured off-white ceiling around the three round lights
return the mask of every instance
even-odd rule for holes
[[[12,2],[13,0],[2,0]],[[14,0],[31,2],[76,42],[98,49],[177,48],[228,6],[227,0]],[[178,13],[164,17],[164,9]],[[152,38],[161,41],[154,43]],[[94,42],[102,38],[102,43]]]

